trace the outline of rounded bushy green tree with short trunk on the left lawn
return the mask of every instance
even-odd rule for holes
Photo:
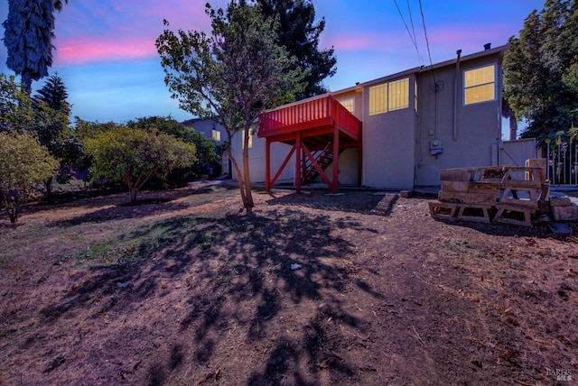
[[[94,174],[124,182],[132,205],[149,179],[163,179],[172,169],[196,161],[194,144],[158,131],[117,126],[84,141],[94,161]]]

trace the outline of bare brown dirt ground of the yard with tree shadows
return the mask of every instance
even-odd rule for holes
[[[574,236],[369,191],[256,193],[252,216],[217,186],[141,199],[0,216],[0,384],[578,378]]]

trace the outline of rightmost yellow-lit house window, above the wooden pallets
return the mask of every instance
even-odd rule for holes
[[[463,71],[463,104],[496,100],[496,65]]]

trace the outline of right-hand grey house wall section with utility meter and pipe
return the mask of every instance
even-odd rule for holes
[[[496,65],[496,99],[464,105],[464,71],[492,63]],[[433,76],[431,71],[418,74],[415,186],[440,185],[439,175],[443,169],[498,163],[497,150],[501,137],[500,74],[499,53],[475,60],[462,60],[459,69],[456,63],[451,63],[434,70]],[[438,84],[437,88],[433,78]],[[433,140],[441,142],[443,153],[431,154]]]

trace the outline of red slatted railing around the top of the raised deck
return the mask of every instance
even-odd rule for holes
[[[359,138],[361,122],[334,97],[321,97],[277,107],[260,116],[259,137],[292,133],[324,125],[340,125]]]

